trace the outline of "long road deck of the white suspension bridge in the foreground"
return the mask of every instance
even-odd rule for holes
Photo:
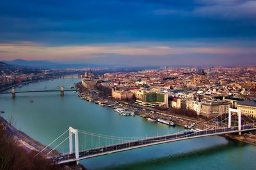
[[[246,125],[241,127],[241,132],[253,131],[253,130],[256,130],[256,128],[254,128],[253,125]],[[188,134],[188,133],[170,134],[166,136],[145,138],[138,141],[130,141],[127,143],[94,148],[92,150],[83,150],[79,152],[79,159],[76,159],[74,153],[73,154],[66,153],[61,155],[60,157],[56,157],[55,160],[56,162],[58,162],[58,164],[65,164],[67,162],[74,162],[77,160],[98,157],[100,155],[106,155],[106,154],[115,153],[115,152],[122,152],[125,150],[132,150],[135,148],[141,148],[145,146],[159,145],[161,143],[169,143],[169,142],[181,141],[185,139],[193,139],[193,138],[200,138],[200,137],[220,135],[220,134],[230,134],[230,133],[236,133],[236,132],[240,132],[238,130],[238,127],[231,127],[231,128],[225,128],[225,129],[211,129],[211,130],[205,130],[200,132],[193,132],[191,134]]]

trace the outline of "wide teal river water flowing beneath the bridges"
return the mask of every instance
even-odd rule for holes
[[[17,88],[17,91],[51,90],[59,88],[59,85],[67,89],[79,81],[78,78],[40,81]],[[1,95],[0,110],[5,111],[1,113],[2,117],[12,119],[18,129],[44,145],[51,143],[69,126],[97,134],[131,138],[183,130],[179,126],[148,122],[137,115],[122,117],[112,108],[81,100],[74,92],[65,92],[64,97],[60,97],[60,92],[17,94],[15,99],[10,94]],[[79,143],[81,149],[86,143],[91,146],[98,143],[97,138],[90,139],[80,134],[79,142],[82,143]],[[57,150],[68,152],[68,141]],[[80,163],[88,169],[256,169],[255,159],[256,146],[211,136],[113,153]]]

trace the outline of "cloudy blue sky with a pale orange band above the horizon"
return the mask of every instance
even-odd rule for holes
[[[256,64],[256,1],[0,1],[0,60]]]

